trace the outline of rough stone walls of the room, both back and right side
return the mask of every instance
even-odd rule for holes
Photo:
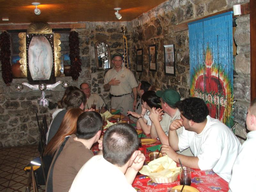
[[[86,28],[75,29],[80,38],[82,59],[80,77],[76,82],[71,81],[70,77],[57,78],[57,81],[69,80],[74,86],[79,86],[84,81],[89,82],[92,84],[92,92],[100,94],[106,102],[109,102],[109,92],[105,92],[103,89],[106,71],[96,70],[94,45],[99,36],[106,36],[111,54],[122,52],[123,39],[120,29],[125,25],[128,29],[126,36],[130,65],[137,80],[146,80],[162,89],[176,89],[182,97],[186,98],[189,96],[190,84],[188,30],[177,33],[174,33],[173,30],[180,23],[231,8],[237,3],[247,2],[249,0],[169,0],[129,22],[86,22]],[[235,39],[238,45],[238,56],[235,66],[237,76],[234,79],[235,121],[239,123],[236,125],[236,130],[245,133],[245,114],[250,102],[249,16],[240,17],[236,22]],[[157,72],[149,71],[149,44],[156,44]],[[164,75],[163,45],[165,44],[175,44],[176,76]],[[136,49],[139,48],[143,48],[143,73],[135,72]],[[238,64],[245,61],[247,67]],[[26,79],[14,79],[12,85],[6,87],[1,75],[0,78],[0,147],[36,143],[39,132],[33,111],[38,109],[40,119],[45,114],[49,124],[53,108],[62,97],[64,89],[59,85],[53,91],[46,91],[47,97],[51,97],[52,103],[49,108],[42,108],[39,107],[36,100],[36,98],[40,98],[40,92],[31,91],[26,87],[21,92],[15,91],[15,84],[26,82]]]

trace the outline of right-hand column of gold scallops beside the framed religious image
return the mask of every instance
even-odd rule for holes
[[[58,77],[61,75],[61,47],[59,46],[61,44],[60,41],[60,34],[59,33],[54,33],[53,34],[53,39],[54,39],[54,61],[55,61],[55,77]]]

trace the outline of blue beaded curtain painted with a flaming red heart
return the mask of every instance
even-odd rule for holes
[[[210,116],[232,127],[232,13],[188,24],[190,94],[203,99]]]

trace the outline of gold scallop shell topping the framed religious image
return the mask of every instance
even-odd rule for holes
[[[48,23],[33,22],[28,26],[27,33],[49,34],[52,33],[52,28]]]

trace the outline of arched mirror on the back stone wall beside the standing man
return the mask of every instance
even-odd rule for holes
[[[95,60],[97,69],[111,68],[110,49],[108,42],[104,40],[97,41],[95,44]]]

